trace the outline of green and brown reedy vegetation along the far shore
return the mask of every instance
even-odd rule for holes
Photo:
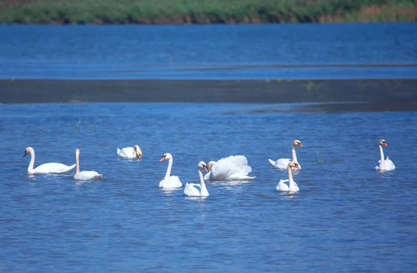
[[[416,21],[417,0],[4,0],[2,24]]]

